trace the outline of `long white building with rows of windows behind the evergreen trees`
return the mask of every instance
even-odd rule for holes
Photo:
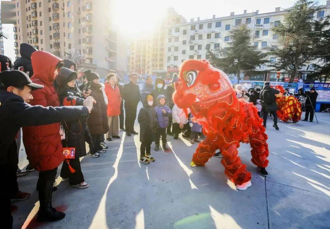
[[[181,63],[186,59],[209,59],[206,49],[216,52],[219,48],[226,48],[229,43],[229,32],[235,26],[246,24],[253,36],[252,43],[266,52],[266,47],[277,47],[278,37],[271,31],[272,26],[276,26],[283,20],[285,11],[277,7],[274,12],[259,14],[259,11],[235,15],[231,12],[229,16],[213,17],[211,19],[197,21],[193,18],[189,22],[171,25],[166,27],[165,40],[165,68],[167,77],[172,77],[174,72],[179,72]],[[317,18],[330,14],[330,1],[323,6],[323,9],[314,15]],[[270,57],[270,61],[276,61],[275,57]],[[310,63],[306,63],[303,70],[312,68]],[[241,72],[241,80],[270,80],[276,81],[277,72],[271,71],[267,66],[257,69],[259,74],[244,77]],[[283,81],[289,75],[283,72],[279,81]],[[234,74],[229,75],[234,78]],[[298,79],[297,79],[298,80]]]

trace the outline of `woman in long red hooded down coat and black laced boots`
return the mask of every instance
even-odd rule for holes
[[[30,104],[45,107],[59,106],[60,102],[53,82],[64,63],[60,58],[45,51],[33,52],[31,62],[34,72],[31,80],[43,85],[44,88],[31,92],[34,99],[30,101]],[[37,183],[40,201],[38,221],[55,221],[65,216],[64,213],[56,211],[51,206],[57,166],[64,160],[59,130],[59,123],[23,127],[23,143],[26,155],[30,165],[39,171]]]

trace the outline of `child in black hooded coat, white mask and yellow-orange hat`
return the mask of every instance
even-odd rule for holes
[[[140,162],[149,164],[150,161],[155,161],[155,159],[151,157],[150,149],[151,143],[154,141],[156,111],[152,107],[153,97],[149,92],[144,92],[141,94],[141,102],[143,107],[140,109],[138,115],[141,142]]]

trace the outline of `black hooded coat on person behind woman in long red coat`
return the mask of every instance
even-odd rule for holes
[[[24,72],[31,78],[33,75],[31,55],[35,51],[38,51],[38,49],[34,48],[32,45],[21,43],[19,48],[21,57],[17,58],[14,62],[14,69],[18,70],[19,67],[23,67]]]

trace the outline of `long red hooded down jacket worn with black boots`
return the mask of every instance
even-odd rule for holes
[[[55,88],[54,72],[62,60],[49,52],[35,51],[31,55],[33,68],[32,82],[44,85],[44,88],[32,91],[31,105],[59,106]],[[42,118],[42,117],[40,117]],[[60,124],[23,127],[23,143],[30,165],[45,171],[56,168],[64,160]]]

